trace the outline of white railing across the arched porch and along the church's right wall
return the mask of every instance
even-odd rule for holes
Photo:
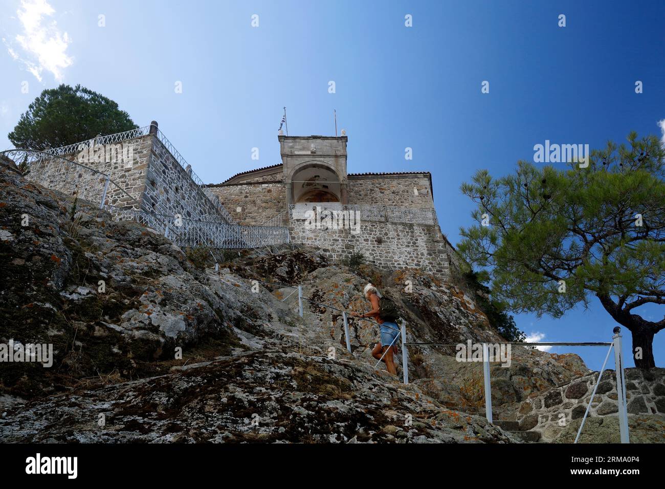
[[[321,202],[289,205],[290,220],[305,220],[317,217],[322,218],[336,212],[356,212],[360,222],[405,222],[412,224],[438,224],[436,212],[431,208],[408,208],[395,206],[364,206],[358,204],[339,204],[337,202]],[[331,216],[334,214],[331,214]]]

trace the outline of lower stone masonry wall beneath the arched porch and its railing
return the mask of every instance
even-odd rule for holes
[[[348,229],[309,230],[305,220],[291,220],[289,230],[292,242],[320,247],[325,256],[334,260],[360,251],[368,261],[385,270],[420,268],[440,279],[450,277],[448,254],[438,226],[363,222],[360,232],[352,234]]]

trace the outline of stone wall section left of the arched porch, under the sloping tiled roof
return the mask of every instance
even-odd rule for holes
[[[235,222],[245,226],[263,224],[286,210],[286,189],[281,182],[228,184],[208,189],[219,198]]]

